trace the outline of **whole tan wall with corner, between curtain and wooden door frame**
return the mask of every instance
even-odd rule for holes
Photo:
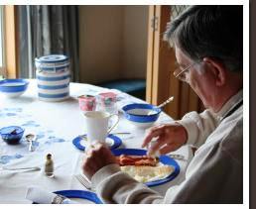
[[[81,82],[146,77],[148,6],[79,6]]]

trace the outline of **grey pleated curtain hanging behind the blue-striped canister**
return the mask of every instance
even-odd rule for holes
[[[78,6],[18,6],[20,76],[35,78],[35,57],[69,56],[71,80],[79,81]]]

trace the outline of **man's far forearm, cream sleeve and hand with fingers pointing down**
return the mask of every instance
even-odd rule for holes
[[[159,151],[161,155],[176,151],[185,144],[195,147],[201,146],[206,138],[217,127],[216,116],[209,110],[198,114],[188,113],[180,121],[155,126],[147,133],[142,148],[148,146],[153,140],[154,145],[150,148],[149,155]]]

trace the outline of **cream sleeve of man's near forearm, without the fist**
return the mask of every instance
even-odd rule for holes
[[[120,171],[117,164],[109,164],[98,170],[91,182],[105,203],[151,204],[162,203],[164,199],[156,191]]]

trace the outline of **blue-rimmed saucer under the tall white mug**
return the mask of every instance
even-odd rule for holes
[[[83,135],[83,137],[86,137],[86,135]],[[85,150],[85,141],[82,137],[76,137],[72,140],[72,144],[75,148],[77,148],[80,151]],[[119,146],[122,145],[122,141],[120,138],[116,137],[115,135],[108,135],[106,139],[106,144],[109,146],[111,150],[117,149]]]

